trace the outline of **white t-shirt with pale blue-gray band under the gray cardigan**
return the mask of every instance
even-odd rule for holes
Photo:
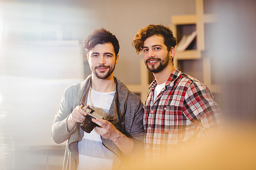
[[[100,115],[108,114],[115,91],[98,92],[90,88],[87,105]],[[99,133],[93,129],[91,133],[84,132],[78,142],[79,164],[77,169],[112,169],[114,153],[106,149]]]

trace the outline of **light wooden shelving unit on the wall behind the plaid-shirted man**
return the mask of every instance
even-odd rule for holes
[[[179,66],[179,61],[190,60],[188,62],[193,62],[191,60],[202,60],[202,67],[199,70],[202,70],[203,77],[202,81],[207,85],[212,93],[219,93],[221,91],[220,86],[217,84],[212,84],[211,82],[211,67],[210,67],[210,57],[202,56],[202,52],[205,51],[205,24],[217,22],[218,17],[214,14],[204,13],[204,1],[196,0],[196,14],[195,15],[176,15],[171,17],[172,23],[169,25],[169,28],[173,31],[174,36],[179,35],[179,30],[182,26],[186,25],[195,25],[197,30],[196,37],[196,49],[195,50],[186,50],[185,52],[176,52],[174,57],[174,66]],[[178,29],[177,29],[178,28]],[[187,73],[186,71],[184,71]],[[187,73],[189,74],[189,73]],[[191,75],[195,78],[197,76]]]

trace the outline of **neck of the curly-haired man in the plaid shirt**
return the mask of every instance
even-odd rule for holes
[[[157,84],[165,83],[170,77],[170,74],[172,74],[174,70],[175,70],[174,65],[168,64],[162,71],[154,73]]]

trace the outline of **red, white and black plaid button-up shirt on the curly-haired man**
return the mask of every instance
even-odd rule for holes
[[[207,135],[210,127],[221,123],[221,110],[208,87],[179,68],[172,72],[154,103],[156,86],[154,80],[143,116],[147,161],[164,156],[178,144]]]

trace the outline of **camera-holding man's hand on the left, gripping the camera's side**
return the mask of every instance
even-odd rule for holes
[[[87,105],[89,106],[89,105]],[[87,113],[82,110],[81,106],[77,106],[68,118],[68,130],[72,131],[76,126],[76,123],[82,123],[86,119]]]

